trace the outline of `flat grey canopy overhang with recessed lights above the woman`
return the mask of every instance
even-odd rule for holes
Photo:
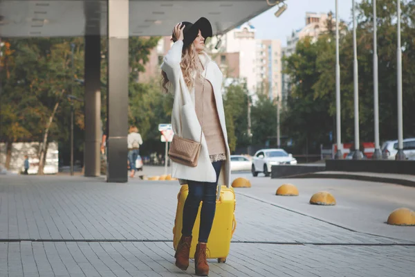
[[[91,6],[95,8],[88,8]],[[201,16],[207,17],[214,34],[220,35],[268,8],[266,0],[130,0],[129,35],[170,35],[179,21],[196,21]],[[104,36],[107,9],[107,0],[0,0],[0,35]]]

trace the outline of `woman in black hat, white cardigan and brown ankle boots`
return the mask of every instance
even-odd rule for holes
[[[212,26],[204,17],[194,24],[177,24],[172,34],[174,44],[161,65],[163,88],[174,95],[174,134],[193,141],[201,139],[196,167],[172,162],[172,177],[189,186],[183,208],[182,237],[175,254],[176,266],[183,270],[189,266],[192,229],[203,201],[199,243],[194,254],[198,276],[209,274],[206,243],[216,209],[216,187],[229,185],[230,181],[230,152],[221,94],[223,75],[203,51],[207,37],[212,37]]]

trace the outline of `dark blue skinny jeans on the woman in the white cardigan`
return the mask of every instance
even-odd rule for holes
[[[212,163],[216,172],[214,183],[189,181],[189,194],[183,208],[183,227],[182,235],[189,237],[192,235],[194,222],[199,211],[199,205],[203,201],[201,209],[201,225],[199,228],[199,242],[208,242],[210,231],[216,211],[216,187],[218,184],[219,173],[221,172],[222,161]]]

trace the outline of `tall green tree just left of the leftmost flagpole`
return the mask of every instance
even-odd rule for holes
[[[299,145],[298,151],[307,152],[310,148],[308,142],[328,141],[329,132],[333,130],[329,115],[330,98],[318,97],[316,89],[319,87],[314,87],[322,71],[319,59],[324,64],[332,52],[331,47],[324,36],[317,42],[306,37],[297,43],[295,53],[286,58],[286,73],[291,76],[293,91],[282,113],[282,129]],[[311,148],[318,147],[317,143],[311,145]]]

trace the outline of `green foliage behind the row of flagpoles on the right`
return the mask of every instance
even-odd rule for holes
[[[415,1],[403,1],[401,5],[404,136],[415,136]],[[378,1],[377,7],[380,139],[387,140],[397,136],[396,0]],[[351,142],[354,136],[353,36],[346,28],[340,33],[342,141]],[[364,0],[358,5],[357,42],[360,140],[374,141],[372,1]],[[333,132],[335,139],[334,33],[329,30],[316,42],[302,39],[285,62],[292,91],[282,115],[283,132],[297,144],[311,141],[317,149],[320,143],[330,142],[329,132]]]

